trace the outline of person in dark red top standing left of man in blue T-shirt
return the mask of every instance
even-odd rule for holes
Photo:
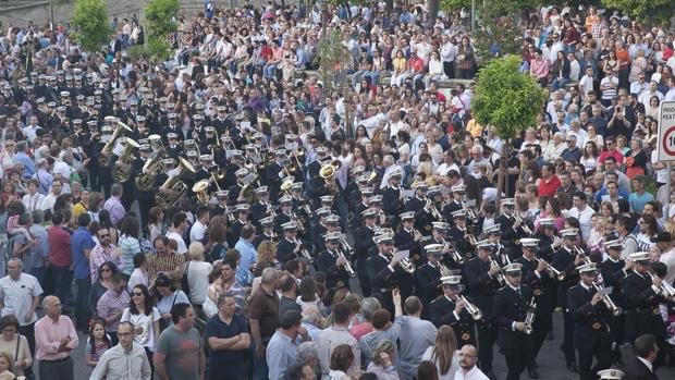
[[[60,210],[51,216],[53,224],[47,230],[49,242],[49,266],[54,279],[54,295],[59,299],[68,299],[73,282],[73,249],[71,248],[71,234],[63,229],[63,223],[70,220],[70,211]]]

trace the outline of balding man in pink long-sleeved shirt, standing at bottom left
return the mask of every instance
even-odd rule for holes
[[[45,317],[35,323],[35,347],[40,379],[73,380],[71,352],[77,348],[73,321],[63,316],[63,305],[56,296],[42,301]]]

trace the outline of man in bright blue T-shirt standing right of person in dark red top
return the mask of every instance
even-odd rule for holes
[[[73,233],[71,244],[73,247],[73,267],[75,283],[77,283],[77,298],[75,299],[75,321],[78,330],[88,330],[89,308],[89,287],[91,287],[91,274],[89,273],[89,254],[96,245],[91,238],[88,228],[91,224],[91,217],[83,213],[77,218],[79,228]]]

